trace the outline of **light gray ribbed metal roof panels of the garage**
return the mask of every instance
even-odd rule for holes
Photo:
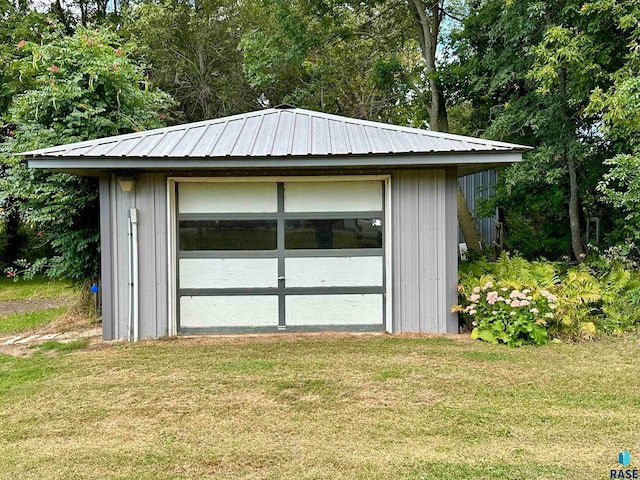
[[[231,117],[33,150],[22,155],[35,159],[78,160],[214,159],[516,153],[528,149],[522,145],[357,120],[284,105]]]

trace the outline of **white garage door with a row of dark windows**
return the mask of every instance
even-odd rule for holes
[[[178,330],[382,330],[380,180],[177,184]]]

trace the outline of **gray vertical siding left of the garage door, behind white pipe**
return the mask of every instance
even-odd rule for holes
[[[166,178],[166,174],[162,173],[137,174],[133,192],[123,192],[115,175],[111,175],[108,180],[102,180],[102,321],[105,339],[129,338],[130,334],[127,331],[130,208],[138,209],[140,338],[157,338],[167,334]],[[105,268],[106,265],[110,265],[110,275],[105,272],[108,270]]]

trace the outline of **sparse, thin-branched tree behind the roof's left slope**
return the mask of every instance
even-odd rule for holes
[[[258,108],[238,48],[250,21],[229,0],[145,1],[123,34],[139,45],[154,83],[175,98],[185,119],[198,121]]]

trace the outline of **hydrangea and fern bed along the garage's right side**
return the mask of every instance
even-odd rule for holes
[[[607,255],[570,268],[506,253],[495,263],[463,262],[458,289],[452,310],[473,327],[473,338],[492,343],[541,345],[640,326],[640,273]]]

